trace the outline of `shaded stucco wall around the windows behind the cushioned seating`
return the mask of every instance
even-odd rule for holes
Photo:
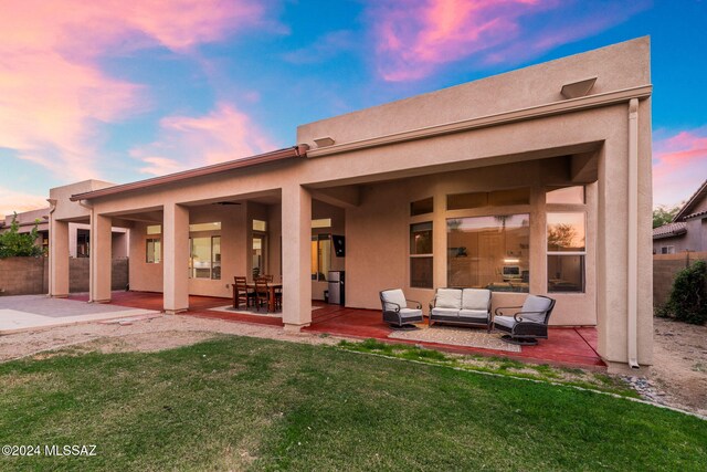
[[[513,180],[508,176],[515,176]],[[571,185],[568,180],[568,159],[556,158],[481,169],[444,172],[363,187],[361,204],[346,210],[347,228],[347,305],[378,308],[381,290],[401,287],[411,300],[428,304],[434,289],[410,286],[410,224],[432,222],[434,231],[434,287],[449,286],[447,234],[450,218],[496,214],[530,214],[530,293],[548,294],[546,259],[546,211],[587,213],[587,270],[584,293],[550,293],[557,307],[550,319],[553,325],[595,325],[595,185],[587,188],[583,206],[545,204],[548,186]],[[447,211],[447,195],[493,191],[530,187],[530,204],[484,207]],[[433,213],[410,216],[412,201],[433,197]],[[526,294],[494,292],[493,306],[523,304]]]

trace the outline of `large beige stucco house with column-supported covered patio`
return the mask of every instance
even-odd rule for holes
[[[67,294],[83,222],[93,302],[110,300],[118,227],[130,289],[161,292],[167,313],[267,272],[298,331],[339,269],[350,307],[380,310],[389,287],[423,304],[444,286],[489,287],[494,306],[549,294],[551,322],[597,326],[610,366],[650,365],[650,69],[640,38],[305,124],[284,149],[52,189],[50,293]]]

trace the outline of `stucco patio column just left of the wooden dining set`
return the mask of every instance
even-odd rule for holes
[[[175,314],[189,308],[189,209],[166,203],[162,221],[163,237],[163,306]]]

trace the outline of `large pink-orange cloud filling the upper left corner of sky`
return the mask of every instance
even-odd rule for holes
[[[190,53],[265,25],[256,0],[3,2],[0,15],[0,147],[55,176],[99,177],[101,127],[150,106],[145,87],[99,62],[161,46]]]

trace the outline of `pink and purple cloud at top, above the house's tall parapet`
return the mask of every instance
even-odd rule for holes
[[[581,11],[572,13],[576,2],[559,0],[390,0],[373,8],[378,69],[386,81],[400,82],[463,59],[515,63],[595,34],[645,6],[579,4]],[[567,18],[549,21],[552,28],[532,24],[558,13]]]

